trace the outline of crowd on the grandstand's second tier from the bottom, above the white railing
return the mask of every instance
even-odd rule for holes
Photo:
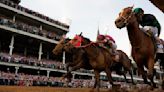
[[[15,63],[15,64],[26,64],[35,67],[45,67],[45,68],[65,70],[65,65],[60,61],[48,60],[48,59],[41,59],[41,61],[38,61],[36,57],[26,57],[19,54],[9,55],[8,53],[1,52],[0,61]],[[80,69],[78,70],[78,72],[93,73],[92,71],[84,70],[84,69]]]

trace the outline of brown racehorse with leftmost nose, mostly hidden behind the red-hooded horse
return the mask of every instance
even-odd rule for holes
[[[90,40],[88,38],[85,38],[83,36],[81,37],[83,38],[81,45],[86,45],[90,43]],[[67,43],[68,41],[69,41],[68,39],[65,39],[65,40],[62,39],[61,41],[59,41],[57,46],[54,48],[53,53],[54,54],[58,54],[59,52],[61,53],[62,50],[64,50],[65,43]],[[132,83],[134,84],[133,76],[131,73],[131,60],[123,51],[118,50],[118,52],[120,53],[119,54],[120,61],[118,63],[115,62],[112,65],[111,69],[112,71],[116,71],[117,74],[123,75],[126,82],[128,82],[126,79],[126,72],[128,71],[129,74],[131,75]],[[71,62],[67,62],[67,66],[66,66],[67,74],[65,74],[64,77],[67,77],[68,79],[71,78],[71,75],[70,75],[71,71],[77,70],[79,68],[84,68],[87,70],[91,69],[88,58],[86,57],[84,53],[81,53],[80,50],[72,49],[71,51],[67,51],[67,53],[71,54],[74,58]],[[68,58],[70,58],[70,55],[69,57],[66,58],[66,61],[68,60]],[[69,69],[69,67],[71,67],[71,69]]]

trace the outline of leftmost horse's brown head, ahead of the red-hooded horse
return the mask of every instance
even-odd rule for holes
[[[70,41],[69,38],[65,39],[62,38],[59,43],[55,46],[55,48],[52,50],[53,54],[57,55],[62,53],[65,49],[64,47],[66,46],[66,43],[68,43]]]

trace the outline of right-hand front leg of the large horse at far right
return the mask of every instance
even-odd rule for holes
[[[151,58],[148,61],[148,78],[150,79],[151,83],[153,84],[153,87],[156,87],[156,84],[154,83],[154,59]]]

